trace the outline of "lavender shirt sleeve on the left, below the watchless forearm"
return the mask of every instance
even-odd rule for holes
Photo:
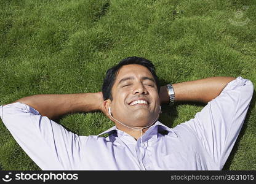
[[[20,147],[42,170],[78,169],[86,136],[67,131],[21,102],[1,105],[0,117]]]

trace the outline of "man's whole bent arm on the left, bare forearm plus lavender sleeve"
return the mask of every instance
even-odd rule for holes
[[[50,118],[98,109],[97,94],[40,94],[0,106],[7,129],[42,170],[79,170],[88,136],[68,131]]]

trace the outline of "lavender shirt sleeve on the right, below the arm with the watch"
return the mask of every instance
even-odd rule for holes
[[[193,119],[184,123],[195,132],[204,150],[220,169],[238,138],[253,93],[252,82],[238,77]]]

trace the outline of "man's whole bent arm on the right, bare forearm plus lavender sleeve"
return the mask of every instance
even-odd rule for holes
[[[195,80],[190,85],[183,85],[183,88],[185,90],[178,86],[176,88],[178,101],[199,101],[207,105],[194,118],[180,123],[173,130],[179,133],[183,141],[190,144],[195,140],[196,144],[201,145],[199,155],[209,161],[209,168],[222,169],[241,131],[254,86],[250,80],[242,77],[234,80],[230,77],[212,77]],[[198,95],[194,91],[198,91]]]

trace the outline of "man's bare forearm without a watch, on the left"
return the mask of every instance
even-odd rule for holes
[[[37,94],[18,99],[38,110],[42,116],[55,119],[66,113],[102,110],[102,93]]]

